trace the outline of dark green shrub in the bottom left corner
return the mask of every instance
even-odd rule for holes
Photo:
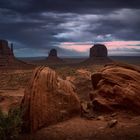
[[[0,140],[16,140],[21,132],[22,112],[16,107],[8,114],[0,110]]]

